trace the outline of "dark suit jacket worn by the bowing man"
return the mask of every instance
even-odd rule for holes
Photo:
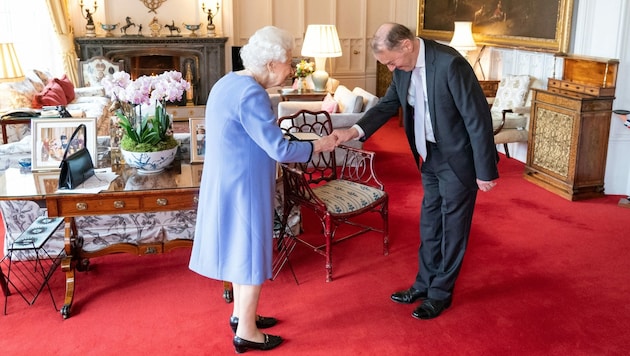
[[[427,101],[438,149],[463,184],[474,188],[476,178],[497,179],[498,154],[492,117],[474,71],[455,49],[426,39],[424,45]],[[366,140],[402,107],[407,140],[419,163],[413,110],[407,103],[410,82],[411,72],[394,70],[385,96],[357,124],[365,132],[362,140]]]

